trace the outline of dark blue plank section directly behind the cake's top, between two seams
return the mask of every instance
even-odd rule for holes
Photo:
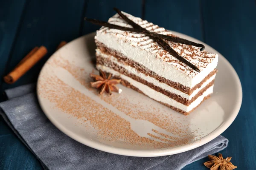
[[[203,40],[199,0],[146,0],[145,20]]]

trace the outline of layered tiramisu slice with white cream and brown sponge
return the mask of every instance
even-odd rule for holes
[[[177,37],[153,23],[122,12],[128,19],[148,31]],[[119,14],[108,23],[134,28]],[[195,65],[195,71],[145,34],[102,27],[95,36],[96,67],[122,84],[188,115],[212,94],[217,70],[218,54],[200,51],[200,48],[164,40],[181,57]]]

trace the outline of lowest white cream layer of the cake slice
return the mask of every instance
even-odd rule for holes
[[[152,88],[149,88],[148,86],[135,81],[134,79],[131,79],[130,77],[127,77],[123,74],[120,74],[117,71],[114,71],[111,68],[108,68],[104,65],[96,65],[97,69],[101,69],[102,71],[106,71],[108,73],[111,73],[115,76],[119,76],[121,79],[126,80],[127,82],[131,83],[131,85],[134,85],[134,87],[138,88],[140,91],[142,91],[145,95],[148,97],[157,100],[158,102],[166,103],[167,105],[171,105],[175,108],[178,108],[182,111],[189,112],[193,108],[197,107],[204,99],[205,96],[208,96],[209,94],[212,94],[213,92],[213,85],[209,87],[201,96],[199,96],[194,102],[192,102],[189,106],[183,105],[180,102],[177,102],[174,99],[169,98],[168,96],[155,91]]]

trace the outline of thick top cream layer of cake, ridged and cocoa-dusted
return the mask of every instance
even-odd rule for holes
[[[123,14],[148,31],[175,37],[172,32],[164,28],[160,28],[130,14],[124,12]],[[111,17],[108,22],[119,26],[131,27],[118,14]],[[218,54],[200,51],[198,47],[191,45],[166,41],[180,56],[198,67],[201,71],[199,73],[166,52],[150,37],[128,31],[102,27],[97,31],[95,40],[102,42],[106,47],[123,54],[128,59],[140,64],[160,77],[188,88],[193,88],[199,84],[215,69],[218,62]]]

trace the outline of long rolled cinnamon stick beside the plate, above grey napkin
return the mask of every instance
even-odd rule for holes
[[[37,49],[37,47],[35,47],[19,62],[13,71],[3,78],[4,81],[8,84],[16,82],[17,79],[29,71],[29,69],[32,68],[33,65],[35,65],[42,57],[44,57],[45,54],[47,54],[47,48],[41,46]]]

